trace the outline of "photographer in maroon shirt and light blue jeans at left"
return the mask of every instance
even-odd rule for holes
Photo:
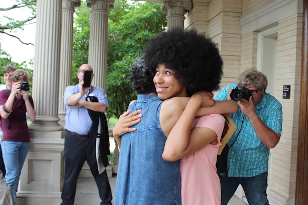
[[[18,69],[12,73],[12,89],[0,91],[0,125],[3,131],[2,153],[6,167],[5,179],[14,200],[19,177],[29,149],[29,129],[26,113],[35,120],[33,99],[29,92],[28,72]]]

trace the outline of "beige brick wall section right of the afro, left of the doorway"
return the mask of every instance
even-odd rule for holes
[[[238,0],[215,0],[210,1],[207,6],[207,34],[218,44],[224,61],[224,75],[221,81],[223,87],[235,83],[239,74],[241,58],[239,18],[242,5]],[[197,18],[197,22],[199,19],[202,18]]]

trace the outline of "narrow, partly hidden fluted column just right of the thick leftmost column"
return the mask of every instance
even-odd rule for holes
[[[65,88],[71,84],[72,78],[72,50],[73,50],[73,14],[74,7],[80,6],[80,0],[62,0],[62,32],[61,32],[61,57],[59,80],[59,117],[60,125],[64,127],[66,114],[63,103]]]

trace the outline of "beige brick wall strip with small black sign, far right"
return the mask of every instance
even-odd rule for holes
[[[302,16],[279,21],[275,96],[282,104],[283,130],[272,150],[269,186],[286,198],[295,197],[301,70]],[[282,99],[283,85],[291,85],[291,99]]]

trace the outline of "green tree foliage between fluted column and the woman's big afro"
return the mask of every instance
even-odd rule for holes
[[[129,70],[148,40],[167,26],[161,4],[120,1],[110,11],[108,23],[107,96],[108,116],[119,117],[136,99],[129,83]]]

